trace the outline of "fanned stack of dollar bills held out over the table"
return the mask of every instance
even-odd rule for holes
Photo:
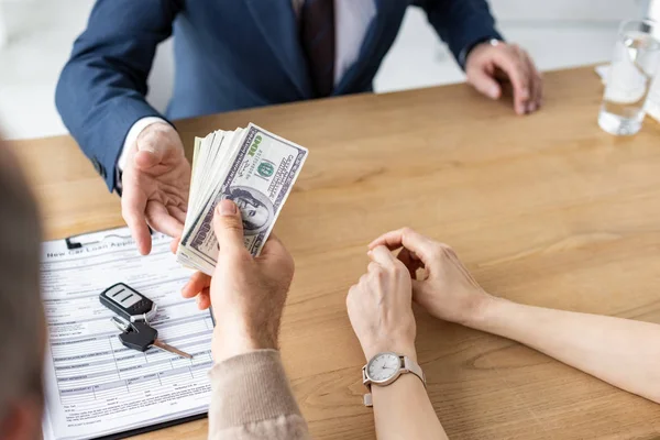
[[[222,199],[233,200],[241,210],[245,248],[258,255],[306,158],[304,146],[252,123],[195,139],[188,213],[177,261],[212,274],[218,257],[213,212]]]

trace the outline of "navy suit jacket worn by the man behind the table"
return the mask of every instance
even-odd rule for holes
[[[409,4],[421,7],[457,59],[501,37],[486,0],[376,0],[356,63],[332,95],[372,89]],[[158,43],[174,34],[165,116],[145,100]],[[56,105],[108,188],[139,119],[178,119],[314,98],[292,0],[97,0],[56,90]]]

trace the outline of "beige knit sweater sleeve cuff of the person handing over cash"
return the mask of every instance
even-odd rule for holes
[[[211,378],[209,440],[307,440],[307,422],[279,352],[257,350],[216,364]]]

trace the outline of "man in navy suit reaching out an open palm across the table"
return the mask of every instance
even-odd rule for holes
[[[429,22],[492,99],[508,79],[518,114],[541,103],[527,53],[495,30],[486,0],[97,0],[56,92],[62,118],[105,178],[142,253],[147,224],[178,237],[190,166],[169,119],[372,90],[405,10]],[[156,46],[174,34],[166,116],[145,100]],[[502,76],[497,78],[496,76]]]

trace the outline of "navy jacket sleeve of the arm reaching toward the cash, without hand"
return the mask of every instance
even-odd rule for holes
[[[59,77],[55,101],[62,119],[110,190],[130,128],[160,117],[145,101],[146,79],[182,2],[97,0]]]

